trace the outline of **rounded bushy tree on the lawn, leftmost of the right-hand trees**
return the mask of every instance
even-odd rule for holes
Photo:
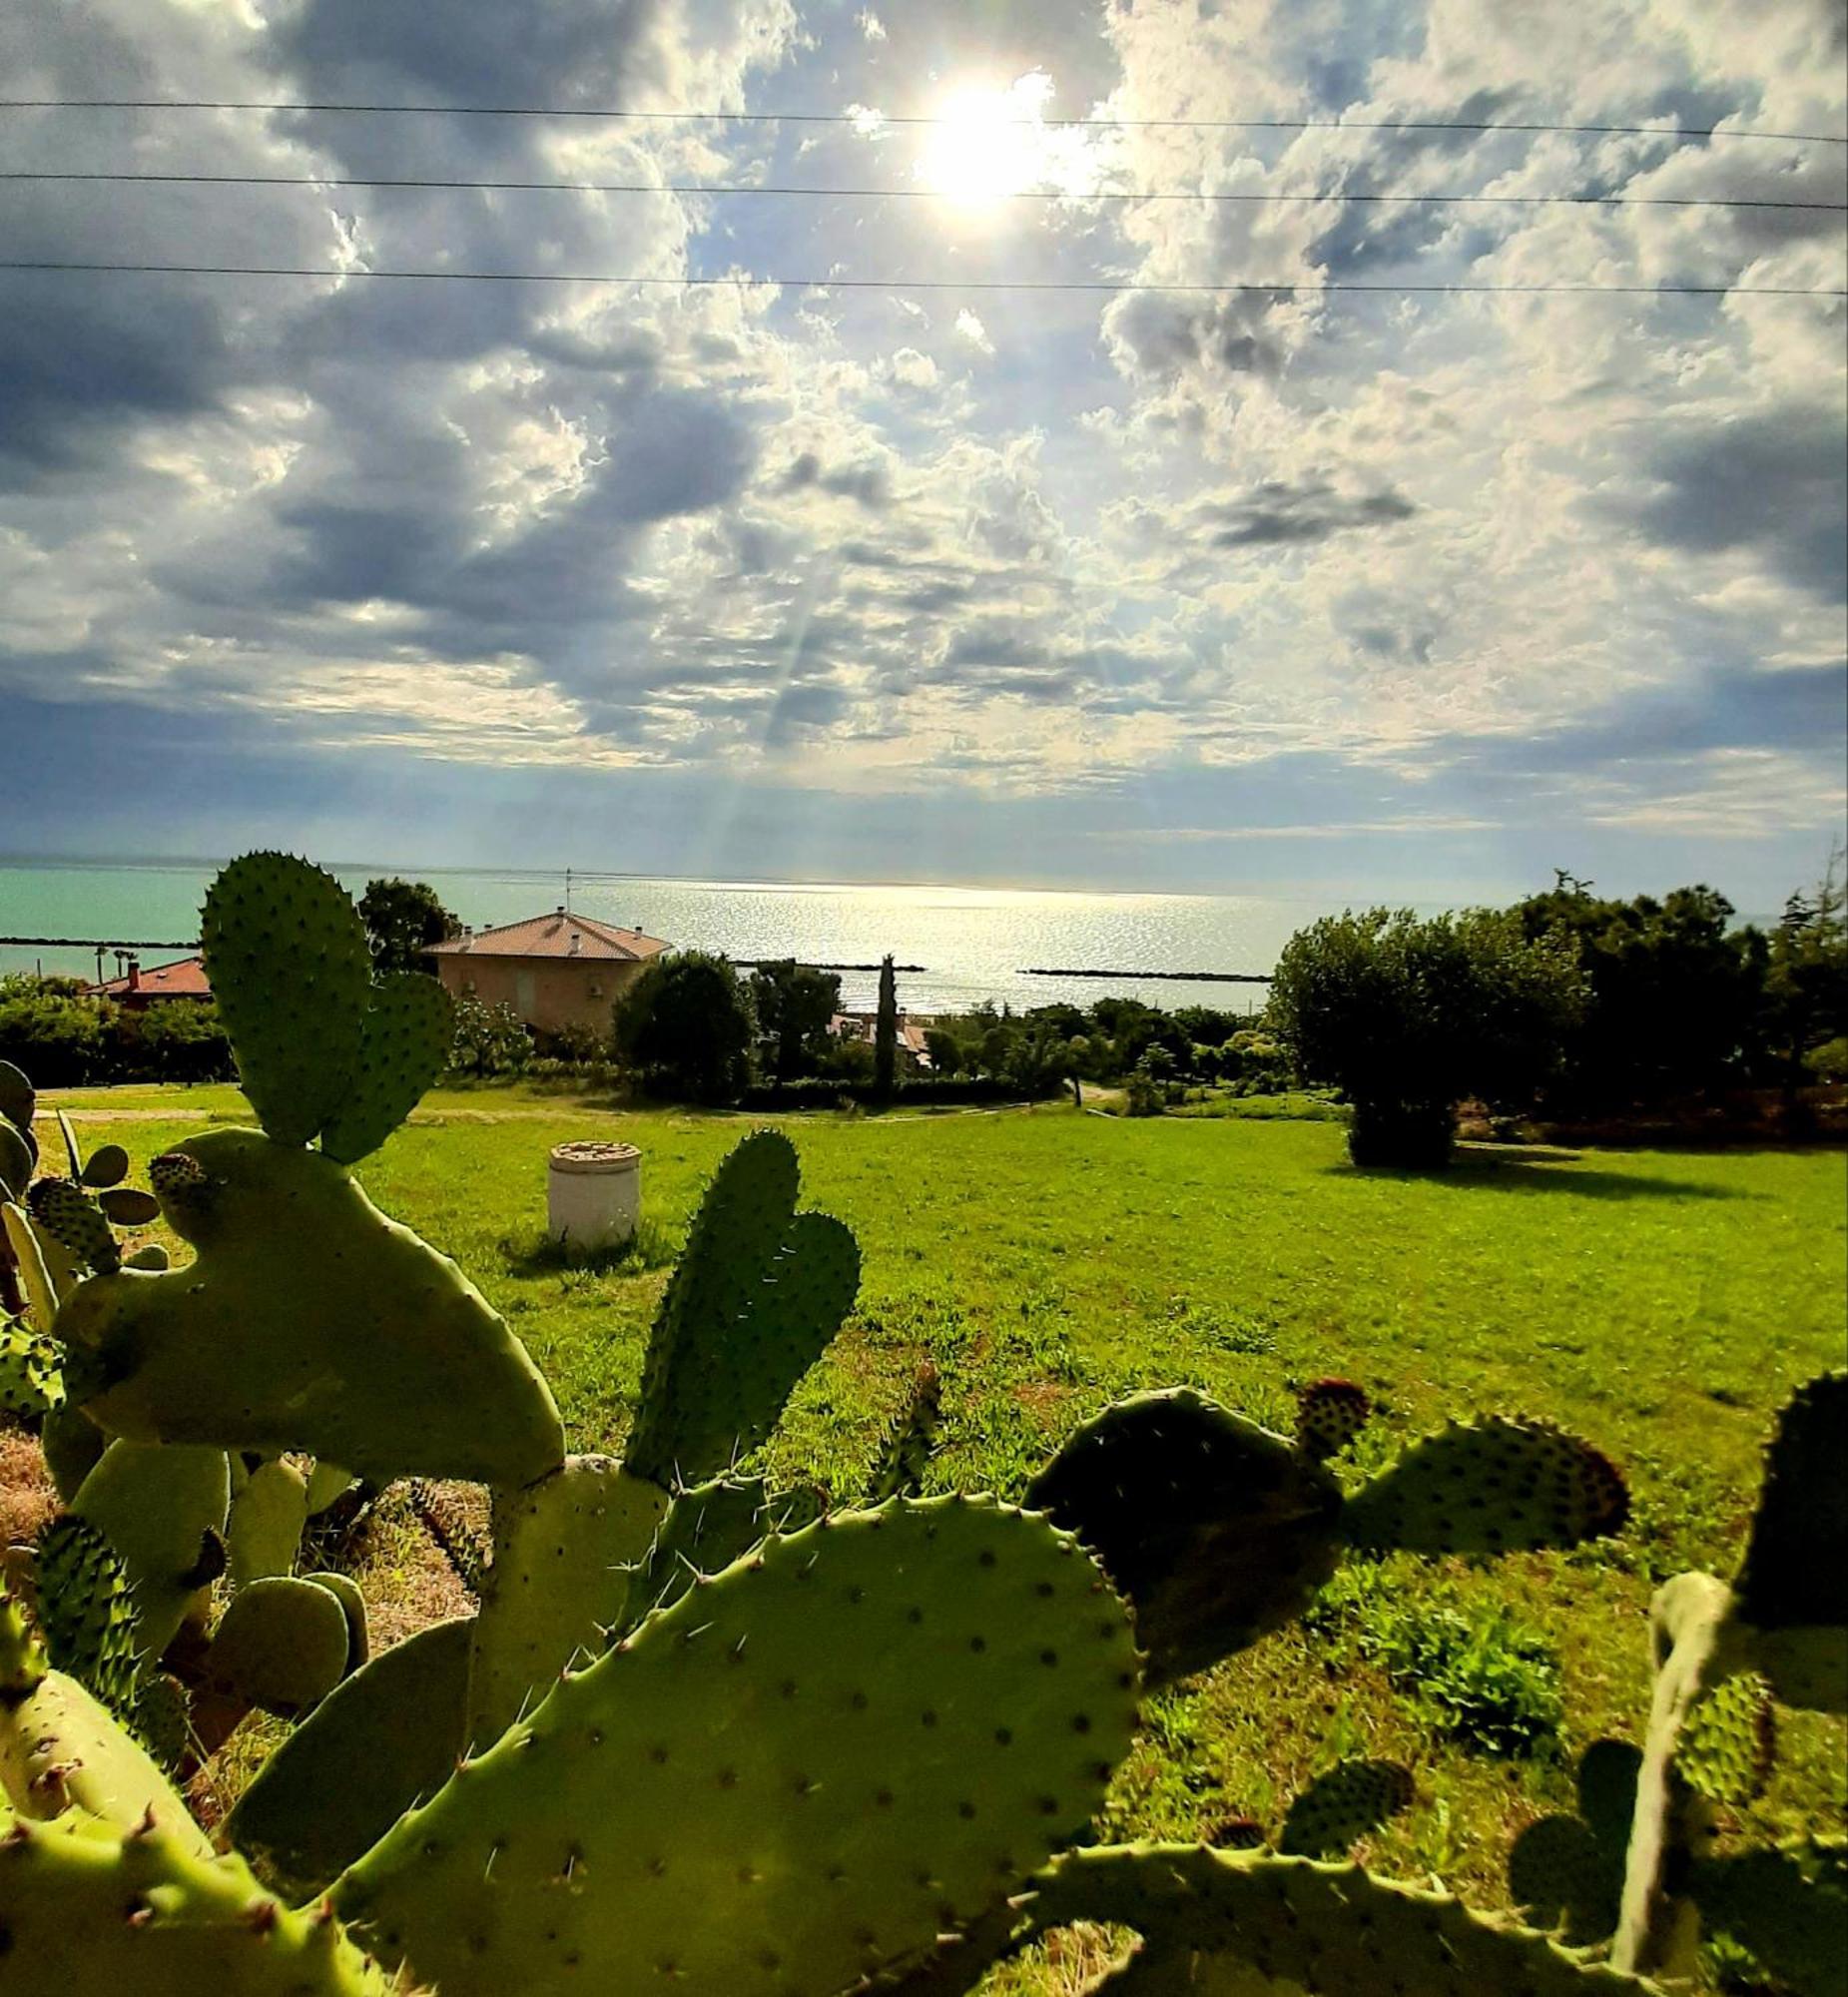
[[[1277,959],[1269,1020],[1353,1104],[1355,1164],[1445,1164],[1457,1104],[1519,1104],[1555,1072],[1581,1004],[1571,943],[1491,909],[1335,915]]]

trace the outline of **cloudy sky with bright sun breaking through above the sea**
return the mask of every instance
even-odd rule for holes
[[[0,110],[303,182],[6,180],[0,262],[327,274],[0,270],[0,853],[1764,911],[1842,839],[1844,216],[1688,206],[1844,202],[1726,136],[1848,132],[1842,0],[8,0],[0,78],[669,114]]]

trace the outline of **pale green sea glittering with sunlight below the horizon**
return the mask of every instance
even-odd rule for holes
[[[186,955],[216,861],[0,861],[0,937],[144,945],[144,965]],[[994,887],[870,887],[786,881],[663,881],[615,873],[333,867],[359,895],[377,875],[429,885],[473,929],[543,915],[583,915],[732,959],[918,969],[898,977],[910,1012],[960,1012],[982,1000],[1016,1010],[1128,995],[1150,1004],[1263,1004],[1263,985],[1193,979],[1036,977],[1038,971],[1269,973],[1291,933],[1327,913],[1245,895],[1084,895]],[[116,953],[102,955],[116,977]],[[0,971],[98,975],[88,947],[0,947]],[[876,971],[844,971],[842,1002],[870,1006]]]

